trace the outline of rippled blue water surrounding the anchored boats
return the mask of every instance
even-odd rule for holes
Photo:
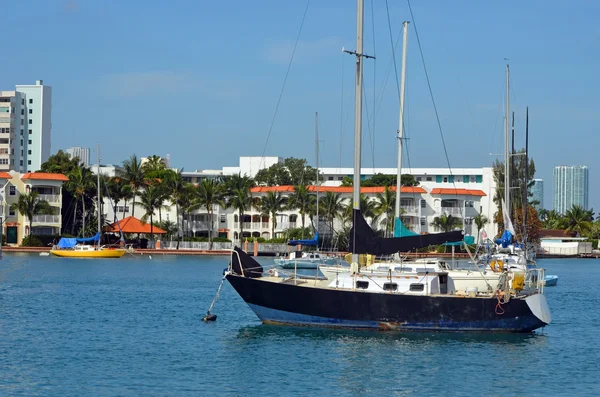
[[[264,326],[226,257],[0,261],[0,396],[597,396],[600,260],[542,260],[535,335]]]

